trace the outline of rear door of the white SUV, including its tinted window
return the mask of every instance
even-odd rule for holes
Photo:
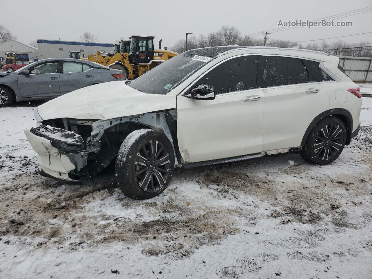
[[[309,68],[319,62],[263,55],[259,84],[263,88],[262,150],[298,147],[311,121],[329,107],[328,90],[314,81]]]

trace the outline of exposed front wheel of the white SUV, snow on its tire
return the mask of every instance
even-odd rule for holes
[[[120,190],[132,199],[150,199],[162,193],[173,177],[173,147],[161,132],[140,129],[129,134],[116,157]]]

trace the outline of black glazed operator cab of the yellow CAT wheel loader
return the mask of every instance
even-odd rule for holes
[[[149,64],[154,59],[154,36],[131,36],[129,62]]]

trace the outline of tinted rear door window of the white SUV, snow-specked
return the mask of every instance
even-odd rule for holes
[[[308,73],[301,59],[263,56],[259,63],[261,87],[308,82]]]

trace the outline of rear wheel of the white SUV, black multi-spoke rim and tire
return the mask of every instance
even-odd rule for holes
[[[345,143],[345,124],[339,118],[330,116],[312,128],[300,154],[310,163],[326,165],[340,156]]]

